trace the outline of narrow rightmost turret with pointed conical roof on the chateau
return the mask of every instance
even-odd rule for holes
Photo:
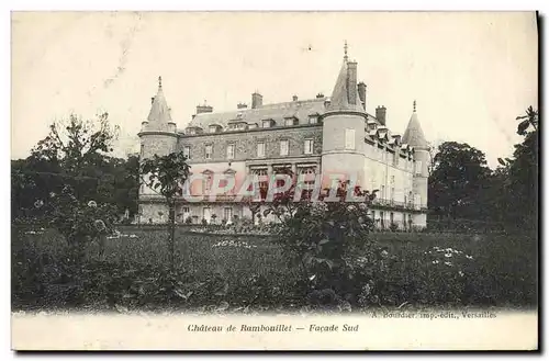
[[[414,100],[414,109],[412,116],[410,117],[408,125],[404,135],[402,136],[402,143],[406,143],[414,148],[414,169],[413,169],[413,193],[414,193],[414,204],[416,207],[426,208],[427,207],[427,190],[428,190],[428,177],[429,177],[429,145],[425,139],[422,126],[419,125],[419,120],[417,119],[416,112],[416,101]],[[418,227],[425,227],[427,219],[426,214],[421,213],[413,216],[414,225]]]

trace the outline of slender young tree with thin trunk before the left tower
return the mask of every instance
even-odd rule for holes
[[[176,199],[183,194],[190,166],[182,151],[143,159],[141,174],[145,184],[166,199],[168,205],[168,245],[171,269],[175,269]]]

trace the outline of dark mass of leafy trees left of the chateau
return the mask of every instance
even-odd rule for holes
[[[49,126],[49,134],[38,142],[26,159],[12,161],[12,219],[41,219],[44,208],[37,200],[51,200],[70,185],[81,202],[94,200],[116,206],[119,214],[137,212],[139,187],[138,158],[109,155],[117,136],[108,114],[94,121],[70,115]]]

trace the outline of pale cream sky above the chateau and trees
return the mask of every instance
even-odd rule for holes
[[[491,167],[537,108],[533,12],[13,13],[11,158],[54,120],[102,110],[121,126],[117,154],[138,150],[158,76],[179,128],[204,100],[229,111],[255,90],[264,103],[329,97],[344,41],[369,113],[385,105],[403,134],[415,99],[427,140],[466,142]]]

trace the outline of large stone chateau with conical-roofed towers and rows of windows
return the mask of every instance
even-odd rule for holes
[[[265,190],[272,174],[291,169],[293,174],[306,174],[309,185],[315,174],[323,180],[329,174],[356,174],[362,189],[378,190],[371,211],[378,227],[426,226],[429,151],[416,102],[404,134],[392,133],[384,106],[377,106],[374,114],[368,111],[367,86],[357,82],[357,63],[348,59],[347,45],[332,97],[299,100],[293,95],[292,101],[267,104],[254,92],[250,106],[240,103],[234,111],[215,113],[211,105],[197,106],[183,129],[171,119],[159,78],[138,136],[142,158],[184,153],[192,174],[203,176],[186,189],[190,194],[210,194],[215,173],[235,181],[233,189],[215,200],[187,202],[181,198],[178,223],[251,217],[246,203],[235,202],[240,183],[255,174]],[[164,199],[142,185],[139,222],[166,222],[167,216]]]

